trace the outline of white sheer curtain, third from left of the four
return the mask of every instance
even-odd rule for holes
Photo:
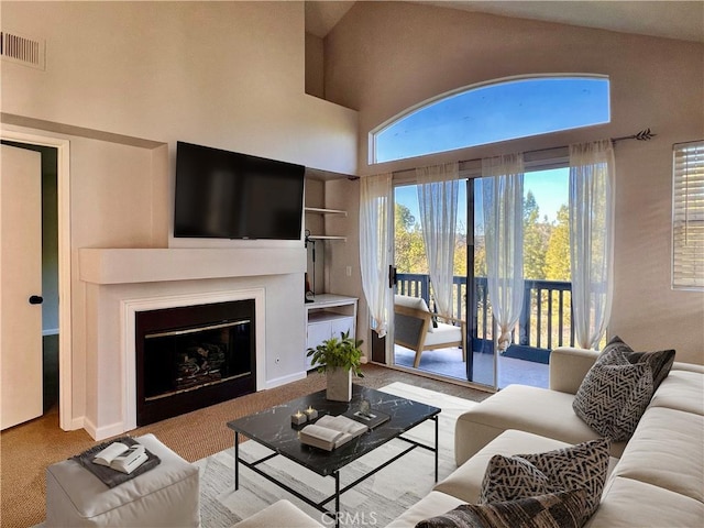
[[[496,321],[494,345],[512,341],[524,300],[524,156],[482,160],[482,209],[488,298]]]

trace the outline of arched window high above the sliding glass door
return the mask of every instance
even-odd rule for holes
[[[372,163],[484,145],[610,120],[608,77],[538,76],[474,85],[372,131]]]

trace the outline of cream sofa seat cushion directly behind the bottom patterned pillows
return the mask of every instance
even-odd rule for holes
[[[486,473],[490,460],[495,454],[512,457],[519,453],[543,453],[546,451],[571,447],[572,446],[566,442],[509,429],[454,470],[446,480],[438,483],[435,490],[455,496],[464,503],[477,503],[482,491],[484,473]],[[609,459],[607,474],[616,462],[616,459]]]

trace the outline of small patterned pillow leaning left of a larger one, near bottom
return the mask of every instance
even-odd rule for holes
[[[526,459],[495,454],[486,466],[479,502],[515,501],[560,491],[563,490],[550,484],[550,479]]]

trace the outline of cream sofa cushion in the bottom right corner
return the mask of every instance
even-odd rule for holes
[[[617,477],[585,528],[692,528],[702,526],[704,504],[663,487]]]

